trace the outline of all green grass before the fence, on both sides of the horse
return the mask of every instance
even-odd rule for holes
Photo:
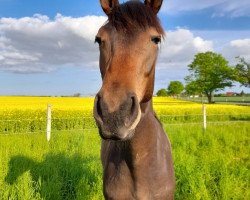
[[[166,131],[176,199],[250,199],[249,123]],[[96,130],[0,136],[0,199],[103,199],[99,152]]]

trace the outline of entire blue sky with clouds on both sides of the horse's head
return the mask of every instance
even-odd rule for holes
[[[122,2],[122,1],[120,1]],[[250,1],[165,0],[167,32],[155,90],[183,81],[193,56],[212,50],[250,60]],[[101,85],[93,39],[99,0],[0,0],[0,95],[93,95]],[[234,87],[231,90],[249,89]]]

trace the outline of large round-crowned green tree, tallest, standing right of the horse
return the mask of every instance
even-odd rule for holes
[[[193,82],[192,84],[198,86],[209,103],[212,103],[213,92],[233,86],[233,68],[228,66],[228,61],[220,54],[198,53],[188,65],[188,70],[190,74],[185,78],[187,84]]]

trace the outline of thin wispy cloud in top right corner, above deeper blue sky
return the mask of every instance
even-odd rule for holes
[[[185,11],[199,11],[203,9],[213,9],[213,16],[250,16],[249,0],[168,0],[163,4],[163,12],[168,14],[178,14]]]

